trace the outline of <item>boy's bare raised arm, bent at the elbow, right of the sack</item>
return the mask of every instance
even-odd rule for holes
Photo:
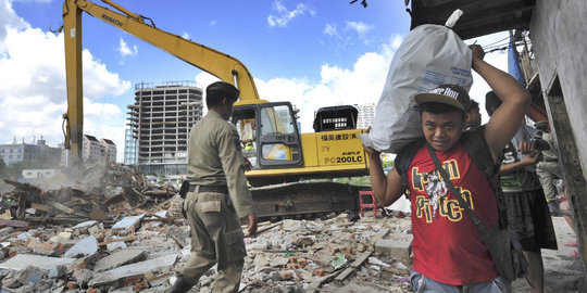
[[[473,69],[487,81],[489,87],[503,102],[491,115],[485,127],[485,138],[491,150],[494,161],[505,144],[515,136],[528,111],[530,95],[511,75],[483,61],[485,53],[478,44],[471,46],[473,50]]]

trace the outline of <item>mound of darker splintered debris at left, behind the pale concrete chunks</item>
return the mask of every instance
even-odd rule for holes
[[[0,218],[8,220],[3,225],[20,224],[11,219],[58,225],[107,220],[112,215],[140,213],[137,209],[165,202],[177,192],[172,186],[150,186],[142,175],[124,166],[88,166],[84,174],[73,182],[58,178],[39,184],[47,188],[61,183],[55,189],[4,180],[9,187],[2,189],[0,201]]]

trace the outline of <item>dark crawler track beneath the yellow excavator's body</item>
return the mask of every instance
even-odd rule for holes
[[[336,182],[291,182],[252,188],[257,216],[295,217],[359,211],[359,191],[370,187]]]

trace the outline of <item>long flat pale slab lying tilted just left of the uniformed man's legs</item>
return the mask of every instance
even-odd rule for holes
[[[175,264],[177,254],[170,254],[158,258],[107,270],[100,273],[96,273],[93,278],[91,278],[91,280],[89,281],[88,285],[104,285],[124,278],[142,276],[147,272],[152,272],[158,269],[167,269],[171,268],[173,264]]]

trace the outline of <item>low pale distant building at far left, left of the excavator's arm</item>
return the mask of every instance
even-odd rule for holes
[[[37,140],[37,144],[16,143],[0,144],[0,156],[10,166],[24,162],[42,162],[48,164],[59,164],[61,150],[47,145],[43,139]]]

